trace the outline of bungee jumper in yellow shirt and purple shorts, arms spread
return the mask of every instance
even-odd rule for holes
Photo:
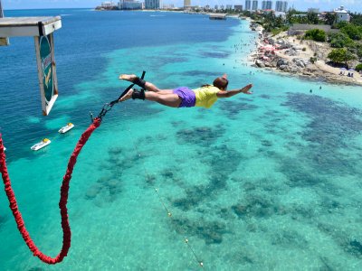
[[[129,89],[120,102],[129,98],[148,99],[155,101],[167,107],[205,107],[210,108],[214,105],[217,98],[230,98],[236,94],[252,94],[252,84],[246,85],[243,89],[226,90],[229,83],[226,74],[214,79],[213,85],[204,85],[198,89],[189,89],[179,87],[176,89],[158,89],[154,84],[138,78],[134,74],[122,74],[119,79],[132,82],[142,89]],[[148,91],[145,92],[144,89]]]

